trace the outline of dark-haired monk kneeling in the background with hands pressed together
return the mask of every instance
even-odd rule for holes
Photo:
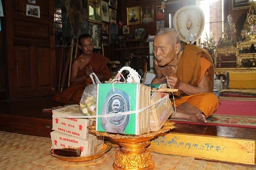
[[[100,81],[111,78],[109,59],[93,53],[93,39],[90,35],[81,35],[78,39],[82,54],[73,60],[68,88],[57,93],[53,100],[63,104],[79,104],[85,87],[93,83],[89,75],[95,73]]]

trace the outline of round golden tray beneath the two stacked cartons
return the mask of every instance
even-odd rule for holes
[[[108,152],[111,149],[110,142],[104,142],[101,150],[94,155],[84,156],[84,157],[65,157],[61,155],[54,154],[52,152],[52,149],[50,149],[50,155],[57,157],[59,160],[67,161],[67,162],[83,162],[83,161],[91,161],[94,159],[97,159],[99,157],[102,157],[106,152]]]

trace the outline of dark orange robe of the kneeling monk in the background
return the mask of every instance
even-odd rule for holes
[[[111,78],[110,70],[108,67],[109,59],[99,55],[98,53],[93,53],[91,59],[88,63],[78,72],[78,77],[85,74],[86,67],[92,66],[95,74],[101,74],[106,80]],[[64,89],[62,92],[57,93],[53,100],[62,104],[79,104],[85,87],[93,83],[91,77],[84,79],[80,83],[73,83],[68,88]]]

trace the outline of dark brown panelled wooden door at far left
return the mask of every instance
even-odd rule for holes
[[[10,98],[55,93],[54,1],[29,2],[5,1]]]

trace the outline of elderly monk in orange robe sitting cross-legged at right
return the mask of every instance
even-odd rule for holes
[[[152,84],[166,82],[178,89],[174,93],[176,113],[170,118],[207,123],[206,118],[218,108],[219,99],[213,93],[214,68],[207,50],[187,44],[181,50],[177,31],[159,30],[154,38],[154,69]]]

